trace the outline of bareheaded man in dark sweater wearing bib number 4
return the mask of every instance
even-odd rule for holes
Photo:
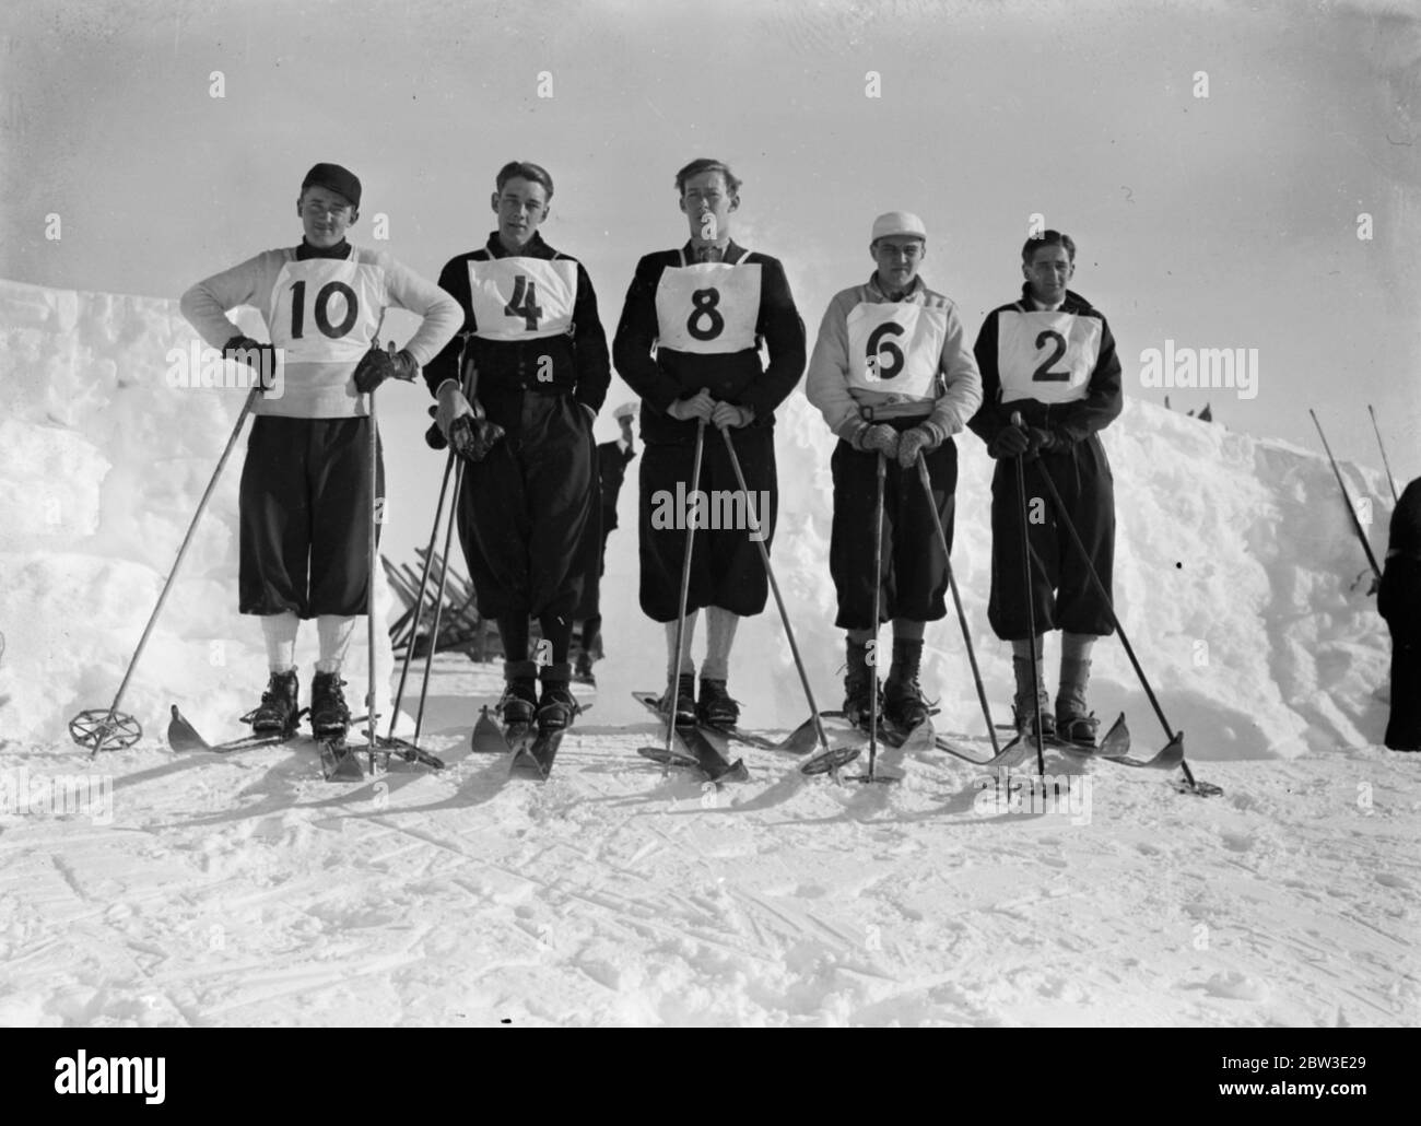
[[[463,307],[463,358],[477,377],[475,402],[460,390],[460,341],[425,368],[448,438],[455,419],[482,411],[504,436],[466,466],[459,540],[477,594],[503,641],[507,724],[566,728],[573,616],[600,535],[593,421],[611,368],[597,294],[581,263],[543,242],[553,179],[514,161],[497,175],[487,243],[450,259],[439,284]],[[549,643],[529,660],[529,618]],[[539,694],[541,681],[541,695]]]

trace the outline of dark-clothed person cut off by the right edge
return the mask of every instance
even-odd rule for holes
[[[1391,513],[1377,611],[1391,631],[1391,717],[1385,744],[1421,751],[1421,478]]]

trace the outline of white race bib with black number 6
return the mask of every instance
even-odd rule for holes
[[[848,314],[848,385],[892,395],[890,402],[938,397],[948,310],[911,301],[863,301]]]

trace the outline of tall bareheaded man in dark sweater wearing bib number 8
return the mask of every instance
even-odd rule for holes
[[[747,509],[753,505],[769,547],[779,502],[774,408],[804,371],[804,323],[779,260],[730,240],[730,215],[740,206],[735,173],[720,161],[692,161],[676,173],[676,193],[691,240],[637,263],[612,354],[618,374],[642,402],[641,608],[666,626],[664,707],[672,695],[681,567],[692,519],[685,512],[666,519],[671,505],[664,502],[691,488],[698,419],[709,424],[702,498],[685,499],[699,509],[705,498],[739,498],[740,519],[696,529],[676,692],[679,721],[699,715],[703,722],[735,724],[739,705],[726,688],[730,645],[740,618],[759,614],[769,597]],[[760,361],[762,344],[769,347],[767,365]],[[718,429],[732,435],[750,496],[740,492]],[[691,641],[702,607],[706,657],[698,698]]]

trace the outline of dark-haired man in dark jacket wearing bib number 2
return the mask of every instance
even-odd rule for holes
[[[1090,550],[1106,590],[1115,552],[1115,498],[1106,449],[1097,432],[1120,414],[1120,360],[1106,318],[1066,289],[1076,272],[1076,243],[1047,230],[1022,247],[1022,296],[993,309],[973,348],[982,370],[982,408],[969,424],[998,459],[992,478],[992,593],[988,621],[1010,641],[1016,670],[1016,722],[1029,731],[1040,709],[1047,735],[1094,745],[1098,721],[1086,705],[1090,651],[1114,631],[1106,603],[1084,560],[1057,520],[1037,473],[1049,473],[1067,516]],[[1020,412],[1026,429],[1010,424]],[[1020,456],[1020,455],[1025,455]],[[1027,523],[1033,552],[1027,583],[1022,562],[1022,512],[1016,466],[1025,462],[1026,496],[1040,498],[1042,519]],[[1036,616],[1036,682],[1032,692],[1026,600]],[[1046,694],[1040,636],[1061,630],[1056,712]]]

